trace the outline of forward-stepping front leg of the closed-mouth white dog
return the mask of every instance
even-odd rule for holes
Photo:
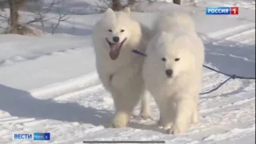
[[[194,111],[194,99],[182,98],[177,102],[174,124],[169,134],[184,133],[190,126],[192,113]]]

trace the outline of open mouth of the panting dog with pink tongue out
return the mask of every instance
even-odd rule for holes
[[[122,44],[126,42],[126,38],[122,42],[118,43],[112,43],[106,38],[106,42],[108,42],[110,45],[110,58],[112,60],[115,60],[118,58],[120,50],[122,48]]]

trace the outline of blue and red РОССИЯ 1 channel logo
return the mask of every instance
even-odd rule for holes
[[[216,14],[231,14],[238,15],[239,9],[238,7],[206,7],[207,15],[216,15]]]

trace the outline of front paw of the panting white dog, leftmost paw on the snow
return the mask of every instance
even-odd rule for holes
[[[126,113],[118,113],[114,117],[111,127],[113,128],[124,128],[126,127],[127,123],[129,122],[129,115]]]

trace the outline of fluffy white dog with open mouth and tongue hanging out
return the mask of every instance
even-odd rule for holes
[[[150,94],[142,81],[144,58],[132,53],[133,49],[145,52],[149,40],[150,29],[132,19],[129,8],[119,12],[109,8],[94,26],[98,75],[114,98],[116,114],[111,123],[113,127],[127,126],[140,98],[142,117],[150,118]]]

